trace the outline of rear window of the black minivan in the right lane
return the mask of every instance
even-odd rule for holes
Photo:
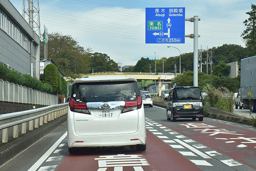
[[[173,100],[197,100],[201,99],[200,88],[175,88],[173,90]]]

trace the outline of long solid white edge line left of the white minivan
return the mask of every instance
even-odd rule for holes
[[[45,159],[47,159],[49,157],[50,154],[52,154],[52,151],[55,150],[55,148],[58,147],[58,145],[61,143],[61,141],[67,136],[67,131],[61,136],[61,138],[59,138],[54,145],[52,145],[52,147],[49,148],[49,150],[40,158],[38,159],[38,161],[35,162],[34,165],[31,166],[31,168],[29,168],[28,171],[36,171],[36,169],[38,169],[38,167],[44,162]]]

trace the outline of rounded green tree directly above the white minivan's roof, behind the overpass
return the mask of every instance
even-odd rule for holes
[[[107,54],[95,52],[90,55],[91,70],[94,72],[116,71],[119,69],[117,63],[113,61]],[[119,71],[120,72],[120,71]]]

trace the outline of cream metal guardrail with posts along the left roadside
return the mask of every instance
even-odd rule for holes
[[[68,103],[55,104],[52,106],[41,107],[33,110],[25,110],[15,113],[7,113],[0,115],[0,130],[3,130],[2,142],[8,142],[9,128],[13,127],[13,138],[19,136],[19,125],[21,124],[21,133],[26,133],[27,122],[29,122],[29,130],[38,128],[67,114]]]

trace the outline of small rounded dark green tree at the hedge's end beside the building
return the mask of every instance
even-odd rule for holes
[[[54,64],[48,64],[44,68],[44,83],[52,86],[53,93],[57,95],[60,92],[60,74]]]

